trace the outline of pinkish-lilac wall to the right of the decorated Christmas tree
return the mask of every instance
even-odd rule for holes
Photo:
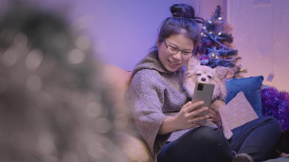
[[[245,77],[269,74],[264,84],[289,91],[288,0],[227,0],[228,22],[233,26],[234,45],[242,57]]]

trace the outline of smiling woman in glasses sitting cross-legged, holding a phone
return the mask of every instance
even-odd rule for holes
[[[151,154],[158,162],[264,161],[280,136],[280,123],[259,118],[233,129],[231,140],[225,139],[214,124],[220,121],[216,110],[223,101],[215,101],[210,109],[203,101],[192,104],[182,87],[183,65],[200,40],[197,23],[203,19],[186,4],[174,4],[170,12],[172,17],[161,25],[157,50],[135,66],[127,90],[136,126]],[[208,115],[198,116],[208,110]],[[204,119],[208,120],[202,126],[198,121]]]

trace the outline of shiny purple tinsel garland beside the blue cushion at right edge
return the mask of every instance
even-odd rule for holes
[[[262,89],[262,115],[272,116],[280,121],[283,130],[289,129],[289,93],[279,92],[275,87]]]

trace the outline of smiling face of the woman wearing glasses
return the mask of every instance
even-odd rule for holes
[[[184,52],[193,51],[193,40],[190,40],[182,34],[171,35],[170,37],[166,38],[165,41],[167,45],[170,45]],[[177,69],[188,63],[189,58],[182,57],[182,51],[179,51],[177,54],[171,54],[167,50],[164,42],[158,43],[158,49],[160,61],[162,62],[163,66],[170,72],[175,72]]]

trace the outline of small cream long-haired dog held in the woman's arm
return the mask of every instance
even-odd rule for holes
[[[206,81],[215,84],[212,98],[213,101],[216,99],[225,99],[225,97],[227,96],[227,89],[223,78],[226,77],[230,68],[217,66],[213,69],[209,66],[201,65],[201,62],[194,57],[190,58],[187,68],[188,69],[185,73],[184,88],[186,89],[189,97],[193,97],[193,91],[196,85],[196,81]],[[220,122],[216,122],[216,124],[219,127],[220,125],[222,125],[223,133],[226,139],[229,140],[233,136],[233,133],[228,126],[228,115],[225,110],[226,104],[225,102],[216,102],[216,104],[218,104],[218,111],[222,118],[222,124]]]

